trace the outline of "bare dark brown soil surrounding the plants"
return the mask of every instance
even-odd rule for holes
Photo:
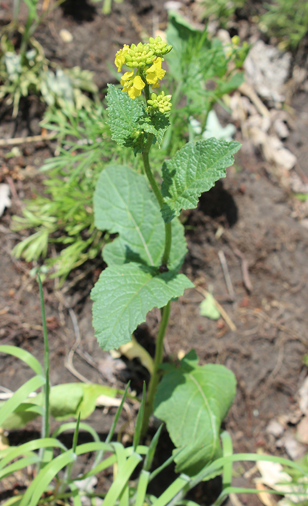
[[[11,2],[6,5],[7,18],[2,16],[3,20],[10,18]],[[124,0],[123,4],[113,3],[112,15],[106,18],[100,13],[100,5],[66,0],[35,36],[45,48],[48,58],[67,67],[80,65],[94,70],[98,86],[104,88],[106,82],[113,79],[107,61],[112,62],[119,46],[140,39],[137,22],[151,33],[153,16],[158,16],[159,23],[162,23],[160,27],[163,28],[166,11],[161,0],[152,3],[150,0]],[[65,44],[60,39],[58,33],[61,28],[73,34],[72,43]],[[296,100],[299,120],[304,122],[305,127],[300,126],[292,133],[288,147],[303,162],[308,130],[302,112],[308,110],[308,97],[303,94]],[[9,113],[2,118],[0,133],[4,137],[28,135],[29,126],[31,133],[39,133],[40,105],[30,99],[22,107],[16,121],[10,118]],[[241,141],[239,134],[238,140]],[[25,166],[31,165],[37,169],[45,158],[51,156],[52,150],[48,144],[24,147]],[[302,169],[308,175],[304,163]],[[11,215],[20,213],[19,199],[30,196],[39,187],[40,178],[34,171],[22,182],[14,183],[16,195],[13,195],[12,207],[0,219],[0,344],[21,346],[42,360],[39,294],[36,283],[29,277],[32,264],[11,257],[10,251],[19,236],[9,228]],[[183,272],[193,281],[198,280],[204,289],[213,290],[214,297],[221,302],[236,325],[236,330],[231,331],[223,319],[212,321],[200,316],[199,304],[203,297],[197,290],[187,290],[184,297],[172,304],[165,356],[175,358],[179,352],[195,348],[200,363],[225,364],[236,374],[237,396],[225,421],[236,452],[262,448],[286,456],[283,450],[276,448],[275,441],[265,429],[272,418],[297,408],[296,392],[306,376],[307,369],[302,357],[307,352],[308,344],[308,230],[290,217],[291,210],[290,197],[268,178],[262,160],[242,149],[235,165],[229,168],[226,180],[217,183],[214,189],[203,195],[199,208],[185,216],[189,253]],[[219,236],[221,231],[223,234]],[[232,303],[228,302],[226,282],[218,258],[219,250],[224,251],[235,291]],[[251,290],[247,290],[243,282],[238,250],[248,263]],[[83,272],[87,274],[82,277]],[[81,280],[68,289],[69,283],[73,284],[74,277],[78,275]],[[108,376],[100,372],[106,353],[99,348],[94,336],[90,301],[90,290],[97,276],[97,270],[93,272],[93,266],[89,263],[72,274],[62,291],[55,289],[53,281],[45,284],[51,383],[56,385],[78,381],[65,367],[65,358],[75,342],[68,312],[68,308],[71,308],[78,320],[80,349],[83,352],[83,355],[74,355],[75,369],[89,381],[118,388],[123,388],[130,378],[133,388],[140,392],[143,379],[147,376],[146,370],[137,362],[128,363],[127,368],[117,374],[111,372]],[[150,353],[153,352],[157,327],[158,312],[153,310],[148,315],[147,325],[143,325],[138,334]],[[1,386],[16,390],[30,376],[30,370],[20,361],[1,357]],[[97,409],[87,421],[103,437],[111,426],[113,413],[114,408],[103,413]],[[124,414],[117,430],[125,421]],[[54,421],[52,430],[56,426]],[[37,431],[39,424],[33,421],[22,431],[12,431],[10,442],[14,444],[18,440],[32,439],[37,436]],[[129,438],[129,430],[127,432]],[[171,451],[172,446],[165,435],[159,458],[166,458]],[[251,467],[245,466],[247,469]],[[101,490],[106,487],[104,480],[99,482]],[[249,482],[235,478],[234,484],[247,486]],[[158,480],[155,486],[159,492],[164,482]],[[219,480],[210,487],[217,492]],[[198,487],[194,500],[209,504],[215,491]],[[207,498],[205,494],[208,494]],[[251,505],[259,503],[257,497],[245,494],[241,496],[241,501]]]

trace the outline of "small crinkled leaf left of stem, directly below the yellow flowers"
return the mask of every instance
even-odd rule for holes
[[[108,85],[108,115],[112,139],[120,146],[131,147],[135,154],[142,150],[143,142],[139,142],[142,128],[140,119],[147,113],[142,102],[128,97],[114,85]]]

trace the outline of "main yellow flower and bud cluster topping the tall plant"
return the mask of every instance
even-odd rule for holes
[[[143,88],[152,85],[152,88],[159,88],[159,80],[165,75],[165,70],[161,68],[163,55],[171,51],[172,46],[161,40],[161,37],[150,38],[148,44],[141,42],[136,46],[132,44],[130,47],[124,44],[123,48],[117,51],[114,63],[121,71],[122,65],[131,69],[125,72],[121,79],[123,92],[128,93],[132,99],[139,97]]]

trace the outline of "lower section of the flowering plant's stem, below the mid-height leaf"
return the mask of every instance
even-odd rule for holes
[[[160,379],[159,375],[159,365],[162,362],[163,358],[163,342],[164,335],[168,325],[168,319],[170,314],[170,305],[171,301],[167,303],[167,305],[162,308],[161,311],[161,322],[158,330],[157,338],[156,338],[156,347],[155,347],[155,357],[154,357],[154,370],[150,380],[148,395],[146,399],[145,412],[143,418],[143,426],[142,426],[142,434],[146,433],[146,430],[149,425],[149,419],[153,411],[154,397],[156,394],[157,385]]]

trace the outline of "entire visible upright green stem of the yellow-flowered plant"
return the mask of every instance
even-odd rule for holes
[[[148,91],[148,86],[146,86]],[[147,95],[146,95],[147,96]],[[161,192],[158,188],[158,185],[155,181],[155,178],[152,174],[150,162],[149,162],[149,152],[152,146],[153,142],[153,134],[148,135],[148,139],[146,142],[146,145],[144,147],[143,153],[142,153],[142,159],[144,164],[145,173],[147,175],[147,178],[150,182],[150,185],[152,187],[152,190],[154,192],[154,195],[158,201],[159,207],[162,208],[162,205],[164,203],[163,197],[161,195]],[[162,265],[167,265],[170,255],[170,248],[171,248],[171,223],[165,223],[165,247],[164,252],[161,258]],[[143,418],[143,426],[142,426],[142,434],[145,434],[148,428],[149,419],[153,411],[153,404],[154,404],[154,397],[157,389],[157,385],[159,382],[159,364],[162,361],[163,357],[163,340],[165,331],[168,325],[168,319],[170,314],[170,301],[166,306],[164,306],[161,309],[161,322],[156,338],[156,347],[155,347],[155,357],[154,357],[154,370],[151,377],[148,395],[146,399],[145,404],[145,412],[144,412],[144,418]]]

